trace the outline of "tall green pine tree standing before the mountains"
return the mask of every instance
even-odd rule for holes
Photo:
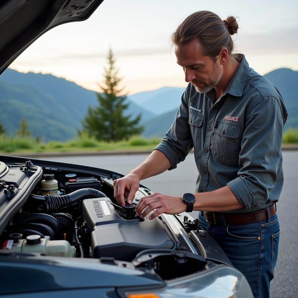
[[[141,114],[134,119],[131,119],[132,115],[124,115],[129,103],[126,95],[120,95],[124,88],[118,88],[122,78],[118,76],[119,70],[115,67],[111,49],[107,59],[108,67],[104,69],[105,86],[100,86],[103,94],[97,93],[98,105],[88,107],[82,126],[84,131],[98,140],[118,141],[141,134],[144,128],[139,125]]]

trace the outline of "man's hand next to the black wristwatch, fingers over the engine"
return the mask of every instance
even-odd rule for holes
[[[152,195],[147,195],[139,200],[135,209],[136,216],[144,218],[154,209],[156,210],[150,215],[149,219],[156,218],[156,216],[162,213],[179,214],[184,212],[186,211],[186,204],[182,201],[181,196],[172,197],[170,195],[162,195],[161,193],[153,193]]]

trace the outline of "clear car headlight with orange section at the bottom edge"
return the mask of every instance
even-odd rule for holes
[[[233,267],[221,266],[167,281],[163,288],[121,291],[127,298],[253,298],[246,278]],[[119,291],[118,291],[119,293]],[[120,293],[119,293],[120,294]]]

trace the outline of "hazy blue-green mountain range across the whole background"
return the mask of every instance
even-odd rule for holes
[[[285,129],[298,127],[298,101],[294,86],[298,72],[276,69],[265,77],[280,90],[289,115]],[[163,87],[128,96],[126,114],[142,114],[144,136],[164,136],[173,122],[184,88]],[[88,105],[97,105],[95,91],[49,74],[6,69],[0,76],[1,122],[15,134],[24,117],[32,131],[45,141],[65,141],[76,135]]]

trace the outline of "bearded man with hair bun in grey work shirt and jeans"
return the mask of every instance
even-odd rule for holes
[[[287,110],[268,80],[232,55],[238,24],[209,11],[187,17],[172,35],[177,63],[190,82],[173,125],[150,156],[114,181],[114,196],[134,198],[139,181],[171,170],[194,148],[195,194],[154,193],[136,215],[199,210],[199,222],[246,276],[255,297],[269,297],[279,242],[275,213],[282,185],[281,142]],[[182,196],[181,196],[182,195]],[[146,208],[147,207],[147,208]],[[146,208],[146,209],[145,209]]]

